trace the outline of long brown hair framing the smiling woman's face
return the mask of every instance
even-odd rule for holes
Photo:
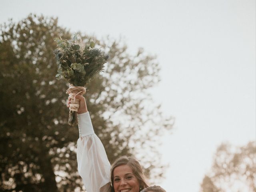
[[[132,169],[132,173],[138,179],[141,189],[147,188],[148,184],[146,184],[145,176],[140,166],[140,163],[134,157],[122,156],[115,160],[115,162],[111,166],[111,183],[114,186],[114,169],[121,165],[128,165]]]

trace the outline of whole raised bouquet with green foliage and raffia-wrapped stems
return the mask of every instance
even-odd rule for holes
[[[68,124],[76,126],[78,124],[77,111],[79,101],[76,100],[78,94],[85,94],[86,85],[90,79],[101,72],[104,64],[108,61],[108,55],[102,53],[98,48],[94,48],[94,42],[89,45],[84,44],[80,36],[74,35],[72,40],[55,38],[57,48],[54,50],[58,64],[58,74],[56,78],[63,77],[70,86],[66,91],[71,98]]]

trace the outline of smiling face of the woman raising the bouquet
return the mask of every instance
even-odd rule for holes
[[[120,165],[114,169],[115,192],[139,192],[140,183],[128,165]]]

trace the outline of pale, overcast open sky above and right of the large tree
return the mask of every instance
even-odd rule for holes
[[[156,55],[162,80],[152,96],[176,118],[157,184],[198,192],[218,145],[256,140],[255,9],[255,0],[1,0],[0,23],[56,16],[72,32],[122,36],[131,54]]]

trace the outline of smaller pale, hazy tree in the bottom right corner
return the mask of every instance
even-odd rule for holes
[[[202,192],[255,192],[256,143],[233,147],[221,144],[214,163],[201,184]]]

